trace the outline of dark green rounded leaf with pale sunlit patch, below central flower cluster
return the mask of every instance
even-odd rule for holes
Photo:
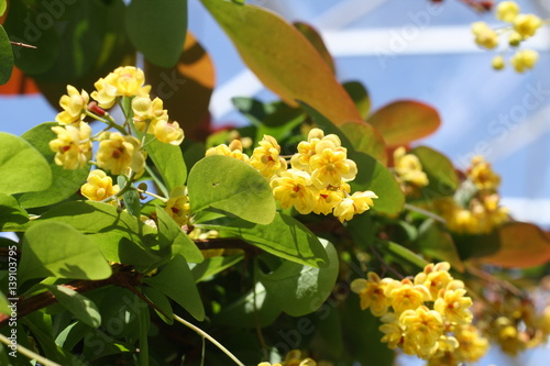
[[[319,309],[332,292],[338,277],[338,254],[331,243],[321,241],[329,265],[323,268],[284,262],[271,274],[258,270],[258,279],[273,301],[292,317],[301,317]]]

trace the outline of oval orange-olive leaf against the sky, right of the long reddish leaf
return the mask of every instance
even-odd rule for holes
[[[399,100],[378,109],[366,122],[384,136],[388,146],[406,145],[433,133],[441,123],[437,110],[411,100]]]

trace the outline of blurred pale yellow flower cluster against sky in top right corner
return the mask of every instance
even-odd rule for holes
[[[507,26],[499,29],[501,34],[508,34],[508,45],[518,47],[521,42],[535,35],[537,30],[542,26],[543,21],[535,14],[521,14],[519,5],[514,1],[503,1],[496,7],[496,19],[508,23]],[[475,36],[475,43],[481,47],[492,49],[498,45],[498,33],[488,26],[485,22],[475,22],[472,24],[472,32]],[[539,58],[539,54],[532,49],[524,49],[515,53],[510,58],[510,64],[518,73],[525,73],[531,69]],[[503,55],[493,58],[493,68],[501,70],[506,66]]]

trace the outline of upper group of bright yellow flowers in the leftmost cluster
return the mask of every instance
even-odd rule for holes
[[[63,111],[56,117],[61,125],[52,127],[57,134],[50,142],[50,148],[55,152],[55,163],[65,169],[84,168],[92,157],[92,141],[99,141],[96,156],[99,168],[110,170],[113,175],[128,174],[130,169],[136,176],[141,175],[145,167],[142,142],[131,135],[128,122],[119,125],[101,109],[113,107],[122,97],[133,98],[132,111],[124,112],[133,114],[135,130],[154,134],[163,143],[179,145],[184,140],[184,131],[177,122],[168,122],[162,100],[150,99],[151,86],[144,86],[144,81],[143,71],[136,67],[117,68],[95,84],[96,90],[91,92],[91,98],[97,100],[100,108],[95,102],[94,106],[89,103],[85,90],[78,92],[75,87],[67,86],[67,95],[59,99]],[[90,126],[84,122],[86,115],[108,124],[99,136],[91,136]],[[118,132],[108,131],[110,129],[117,129]]]

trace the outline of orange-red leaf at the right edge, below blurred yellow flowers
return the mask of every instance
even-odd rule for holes
[[[550,260],[550,237],[537,225],[513,222],[498,230],[499,248],[483,263],[506,268],[534,267]]]

